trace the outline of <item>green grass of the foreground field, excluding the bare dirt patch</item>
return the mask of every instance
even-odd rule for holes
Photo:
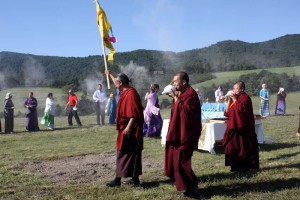
[[[193,169],[200,181],[202,199],[298,199],[300,196],[300,138],[298,126],[300,93],[288,94],[286,116],[263,120],[264,135],[273,144],[260,145],[260,170],[234,175],[224,166],[221,146],[216,155],[195,152]],[[253,99],[254,109],[259,101]],[[274,106],[275,98],[271,101]],[[170,110],[162,110],[168,118]],[[39,174],[20,169],[23,161],[55,160],[62,157],[100,154],[115,151],[114,126],[94,126],[95,116],[81,116],[82,128],[69,128],[66,117],[55,118],[56,130],[36,133],[24,131],[24,118],[15,119],[16,134],[0,135],[0,199],[182,199],[173,184],[163,176],[163,168],[144,168],[142,187],[107,188],[110,178],[90,183],[52,184]],[[3,121],[3,120],[2,120]],[[3,123],[2,123],[3,125]],[[158,163],[164,162],[164,149],[159,139],[145,138],[143,155]]]

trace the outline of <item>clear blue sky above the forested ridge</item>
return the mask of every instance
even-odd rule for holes
[[[99,0],[118,43],[181,52],[223,40],[262,42],[300,33],[299,0]],[[0,51],[102,55],[93,0],[1,0]]]

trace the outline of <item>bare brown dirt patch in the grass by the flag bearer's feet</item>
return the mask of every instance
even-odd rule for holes
[[[143,169],[163,169],[163,163],[145,157],[142,162]],[[53,184],[63,185],[67,182],[85,183],[114,176],[115,163],[116,153],[103,153],[34,162],[24,161],[22,167],[25,171],[51,179]]]

